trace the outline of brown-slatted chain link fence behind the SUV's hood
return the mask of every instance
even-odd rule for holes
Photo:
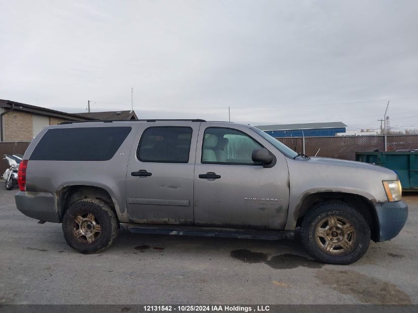
[[[344,160],[355,160],[357,151],[418,149],[418,135],[332,136],[276,138],[296,152]]]

